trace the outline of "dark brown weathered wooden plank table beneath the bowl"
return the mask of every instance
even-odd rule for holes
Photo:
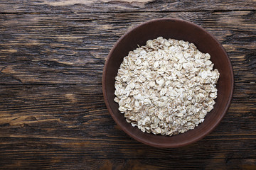
[[[1,0],[1,169],[256,169],[255,10],[255,0]],[[176,149],[129,137],[102,96],[114,42],[163,17],[215,35],[235,74],[218,128]]]

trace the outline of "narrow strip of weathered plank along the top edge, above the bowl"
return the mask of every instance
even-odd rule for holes
[[[254,0],[11,0],[0,2],[1,13],[84,13],[84,12],[159,12],[159,11],[234,11],[255,10]]]

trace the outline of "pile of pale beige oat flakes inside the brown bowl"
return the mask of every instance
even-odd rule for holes
[[[219,75],[210,55],[193,43],[159,37],[124,57],[114,101],[142,132],[176,135],[195,128],[213,109]]]

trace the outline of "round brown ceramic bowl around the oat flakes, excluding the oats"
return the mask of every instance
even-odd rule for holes
[[[210,54],[214,68],[220,72],[217,85],[218,97],[215,99],[213,110],[206,115],[204,122],[193,130],[171,137],[149,134],[142,132],[137,127],[132,127],[127,123],[124,115],[118,111],[118,104],[114,102],[114,77],[117,76],[117,70],[123,58],[128,55],[129,51],[135,50],[137,45],[146,45],[146,40],[152,40],[159,36],[193,42],[198,50]],[[228,111],[233,96],[233,86],[233,69],[228,55],[218,40],[200,26],[174,18],[148,21],[124,34],[107,56],[102,79],[105,103],[117,125],[135,140],[154,147],[181,147],[208,135]]]

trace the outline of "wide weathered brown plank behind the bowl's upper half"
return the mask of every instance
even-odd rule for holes
[[[127,30],[154,18],[197,23],[223,44],[235,80],[255,82],[255,11],[41,13],[0,16],[0,84],[101,84],[105,59]]]

